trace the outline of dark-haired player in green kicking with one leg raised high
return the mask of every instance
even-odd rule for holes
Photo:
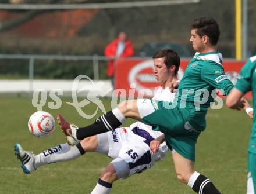
[[[206,127],[205,115],[209,106],[214,104],[215,89],[221,89],[227,95],[233,88],[223,71],[222,54],[216,47],[219,34],[218,23],[210,17],[201,17],[191,23],[190,42],[196,53],[179,83],[175,102],[152,99],[124,101],[90,126],[63,129],[67,141],[74,145],[88,136],[111,131],[122,125],[126,118],[142,121],[164,133],[158,140],[151,141],[151,150],[155,153],[165,138],[172,150],[180,181],[197,193],[220,193],[211,180],[194,169],[195,144]],[[137,155],[133,150],[127,154],[131,157]]]

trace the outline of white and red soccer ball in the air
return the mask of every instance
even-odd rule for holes
[[[30,116],[27,125],[35,137],[47,137],[54,132],[55,120],[49,112],[37,111]]]

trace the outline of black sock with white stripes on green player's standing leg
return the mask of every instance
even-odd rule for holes
[[[192,189],[199,194],[221,194],[212,181],[202,174],[197,177]]]

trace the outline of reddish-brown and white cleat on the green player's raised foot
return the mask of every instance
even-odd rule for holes
[[[69,122],[67,122],[60,114],[57,115],[57,120],[59,127],[66,136],[67,143],[69,145],[79,144],[80,140],[78,140],[76,137],[76,131],[78,127],[74,124],[70,124]]]

